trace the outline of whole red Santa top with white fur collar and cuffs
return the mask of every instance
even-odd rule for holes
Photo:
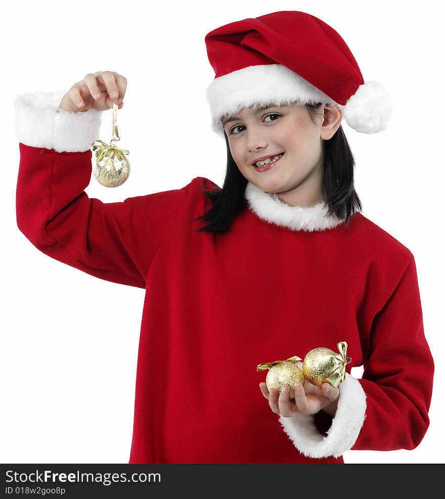
[[[409,249],[360,213],[347,227],[322,221],[320,205],[290,207],[251,184],[248,208],[215,238],[193,221],[210,206],[202,189],[217,187],[207,178],[88,198],[100,113],[56,113],[57,99],[41,111],[25,97],[20,231],[56,260],[145,289],[130,463],[342,463],[348,449],[419,444],[434,367]],[[335,417],[272,413],[257,364],[339,341],[352,362]]]

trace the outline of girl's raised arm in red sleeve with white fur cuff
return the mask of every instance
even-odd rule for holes
[[[63,98],[36,92],[16,99],[18,228],[56,260],[100,279],[145,288],[150,263],[185,203],[188,186],[117,203],[89,198],[84,190],[92,173],[90,146],[99,134],[102,109],[111,108],[114,99],[102,95],[98,104],[82,91],[86,111],[69,111],[73,88]]]

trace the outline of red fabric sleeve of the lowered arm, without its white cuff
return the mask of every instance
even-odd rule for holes
[[[359,380],[366,419],[352,449],[413,449],[429,425],[434,363],[423,330],[414,256],[374,317],[369,358]]]

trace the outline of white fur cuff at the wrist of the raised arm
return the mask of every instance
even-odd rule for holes
[[[57,152],[83,152],[99,138],[102,111],[90,109],[71,113],[59,109],[65,92],[26,93],[14,103],[16,137],[31,147]]]

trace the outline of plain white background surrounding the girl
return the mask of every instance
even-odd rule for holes
[[[204,36],[247,17],[300,10],[337,30],[365,81],[380,81],[392,96],[393,116],[384,132],[358,133],[345,121],[343,129],[355,157],[363,214],[415,256],[425,335],[435,359],[431,423],[421,444],[411,451],[348,451],[344,460],[443,462],[443,7],[380,0],[146,5],[16,2],[3,13],[0,461],[128,462],[144,301],[144,290],[53,260],[18,230],[16,96],[68,91],[90,72],[123,74],[128,86],[118,124],[131,174],[116,189],[92,177],[87,194],[123,201],[184,187],[195,176],[221,186],[226,146],[210,129],[205,89],[214,72]],[[105,142],[111,118],[111,111],[104,113]],[[360,377],[361,371],[352,374]]]

